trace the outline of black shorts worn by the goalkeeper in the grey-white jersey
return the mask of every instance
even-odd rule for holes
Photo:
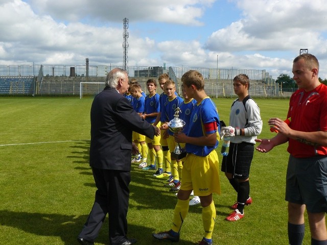
[[[254,144],[248,142],[230,143],[228,155],[223,157],[221,170],[236,179],[247,179],[253,158]]]

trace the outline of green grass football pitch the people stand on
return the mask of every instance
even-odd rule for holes
[[[285,118],[288,100],[256,99],[264,128],[272,137],[269,117]],[[228,122],[231,99],[215,100],[220,119]],[[2,244],[77,244],[94,202],[95,184],[88,165],[89,111],[92,99],[76,97],[0,97],[0,241]],[[250,173],[253,204],[243,219],[224,220],[236,193],[221,173],[215,244],[288,244],[284,201],[287,145],[254,153]],[[220,151],[220,147],[218,149]],[[220,156],[220,154],[219,154]],[[220,156],[221,160],[221,156]],[[132,166],[129,237],[137,244],[170,244],[151,233],[169,230],[176,197],[152,172]],[[310,244],[306,220],[306,237]],[[107,220],[95,244],[108,244]],[[191,206],[179,244],[193,244],[203,235],[201,207]]]

